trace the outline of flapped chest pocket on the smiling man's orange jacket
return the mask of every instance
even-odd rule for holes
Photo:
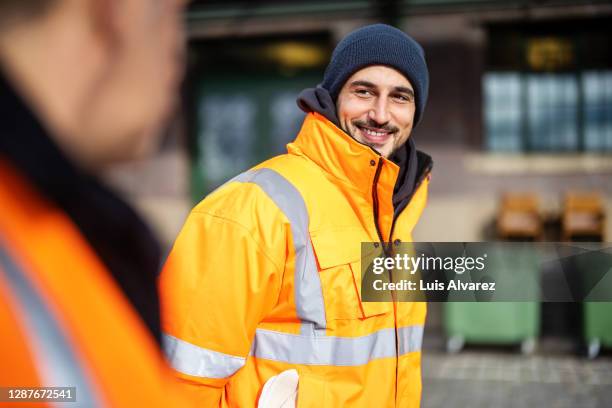
[[[391,303],[361,300],[361,243],[368,240],[363,235],[354,227],[311,233],[327,319],[364,319],[392,311]]]

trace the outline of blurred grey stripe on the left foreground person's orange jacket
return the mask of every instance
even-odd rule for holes
[[[0,273],[4,272],[11,293],[24,312],[18,316],[27,332],[27,341],[35,358],[38,374],[44,386],[76,387],[76,402],[71,407],[99,407],[101,403],[94,384],[89,383],[55,317],[48,311],[43,299],[30,284],[25,274],[0,245]],[[64,406],[65,404],[61,404]]]

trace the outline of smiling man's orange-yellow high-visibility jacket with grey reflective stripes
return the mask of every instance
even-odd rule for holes
[[[361,242],[376,223],[410,242],[425,206],[428,177],[392,227],[398,172],[310,113],[288,154],[193,209],[160,285],[167,355],[202,406],[254,407],[290,368],[298,407],[419,406],[425,303],[360,298]]]

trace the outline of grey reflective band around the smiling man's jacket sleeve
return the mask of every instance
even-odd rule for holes
[[[246,363],[244,357],[198,347],[169,334],[164,334],[164,350],[176,371],[194,377],[226,378]]]

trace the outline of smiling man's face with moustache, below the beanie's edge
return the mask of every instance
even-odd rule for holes
[[[336,112],[340,126],[353,139],[389,157],[410,137],[414,90],[397,70],[369,66],[346,81],[338,94]]]

